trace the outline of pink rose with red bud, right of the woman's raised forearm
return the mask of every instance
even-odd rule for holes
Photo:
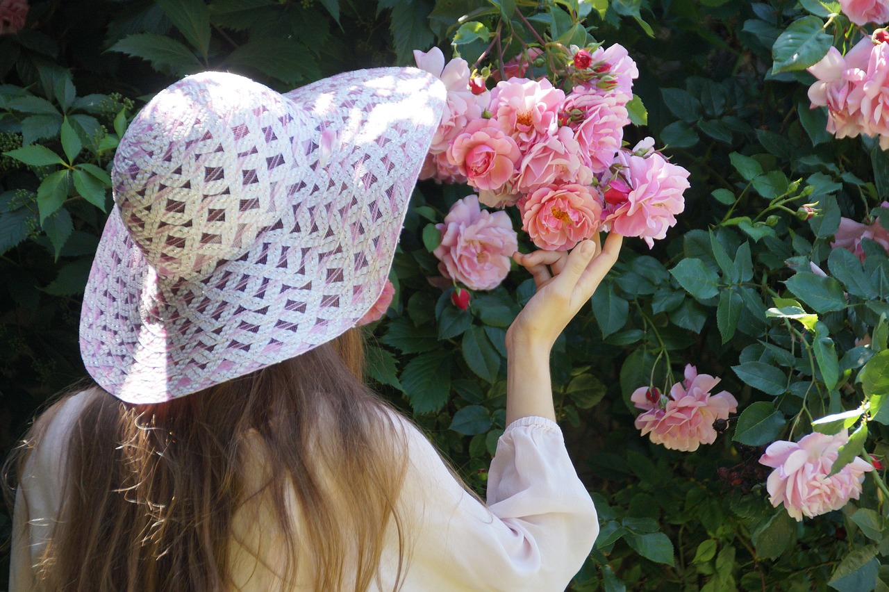
[[[719,379],[698,374],[692,364],[685,365],[685,380],[670,388],[669,396],[655,388],[637,388],[630,400],[645,410],[636,418],[636,427],[654,444],[670,450],[693,452],[701,444],[713,444],[716,420],[727,420],[738,409],[738,402],[728,391],[711,395]]]

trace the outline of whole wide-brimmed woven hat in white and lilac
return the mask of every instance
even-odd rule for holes
[[[159,92],[114,160],[80,323],[92,378],[160,403],[355,326],[444,105],[444,85],[412,68],[286,94],[207,72]]]

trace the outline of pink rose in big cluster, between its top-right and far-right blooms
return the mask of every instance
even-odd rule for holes
[[[574,130],[581,154],[593,172],[605,172],[621,148],[627,108],[613,95],[571,92],[565,97],[562,123]]]

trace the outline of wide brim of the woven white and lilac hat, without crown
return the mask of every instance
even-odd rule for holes
[[[173,282],[111,213],[84,294],[81,352],[112,395],[160,403],[298,356],[354,326],[382,291],[444,86],[419,70],[379,68],[284,96],[328,136],[313,142],[330,145],[314,173],[284,184],[285,222],[243,257]]]

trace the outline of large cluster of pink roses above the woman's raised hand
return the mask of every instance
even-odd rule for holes
[[[622,147],[636,63],[618,44],[571,52],[567,68],[577,82],[567,93],[546,78],[517,76],[488,91],[465,60],[445,64],[437,48],[414,52],[417,66],[448,90],[420,178],[477,191],[437,227],[443,276],[491,290],[509,271],[517,246],[509,215],[479,204],[516,206],[522,229],[549,251],[570,250],[600,230],[639,236],[651,247],[676,224],[688,172],[653,150],[651,139]],[[524,75],[537,55],[517,57],[504,73]]]

